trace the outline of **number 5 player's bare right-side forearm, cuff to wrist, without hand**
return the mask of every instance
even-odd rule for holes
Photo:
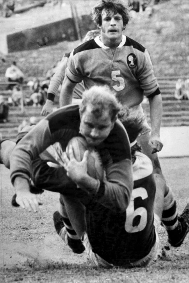
[[[163,114],[161,94],[149,98],[149,105],[150,105],[151,131],[153,134],[157,134],[158,136],[160,136],[161,119]]]

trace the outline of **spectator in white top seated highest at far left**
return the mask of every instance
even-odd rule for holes
[[[9,82],[15,82],[15,84],[22,84],[24,80],[24,74],[22,71],[16,66],[16,62],[13,61],[12,65],[7,68],[5,77],[8,78]],[[14,85],[10,85],[8,89],[13,89]]]

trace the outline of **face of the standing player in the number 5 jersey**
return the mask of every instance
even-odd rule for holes
[[[123,32],[123,18],[120,14],[113,14],[113,12],[108,13],[103,10],[102,14],[102,25],[101,25],[101,40],[106,45],[104,41],[109,40],[110,42],[117,42],[119,45],[122,40]]]

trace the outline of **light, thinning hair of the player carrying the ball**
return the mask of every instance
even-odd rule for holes
[[[111,121],[115,121],[121,104],[115,98],[115,93],[108,86],[92,86],[83,92],[83,101],[80,104],[79,112],[82,117],[87,105],[92,106],[92,113],[100,117],[104,110],[109,109]]]

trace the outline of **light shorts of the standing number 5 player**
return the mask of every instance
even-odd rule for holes
[[[141,129],[138,136],[151,131],[141,104],[129,108],[124,107],[121,109],[118,117],[122,123],[124,123],[124,121],[128,121],[129,123],[132,123],[132,121],[136,122]]]

